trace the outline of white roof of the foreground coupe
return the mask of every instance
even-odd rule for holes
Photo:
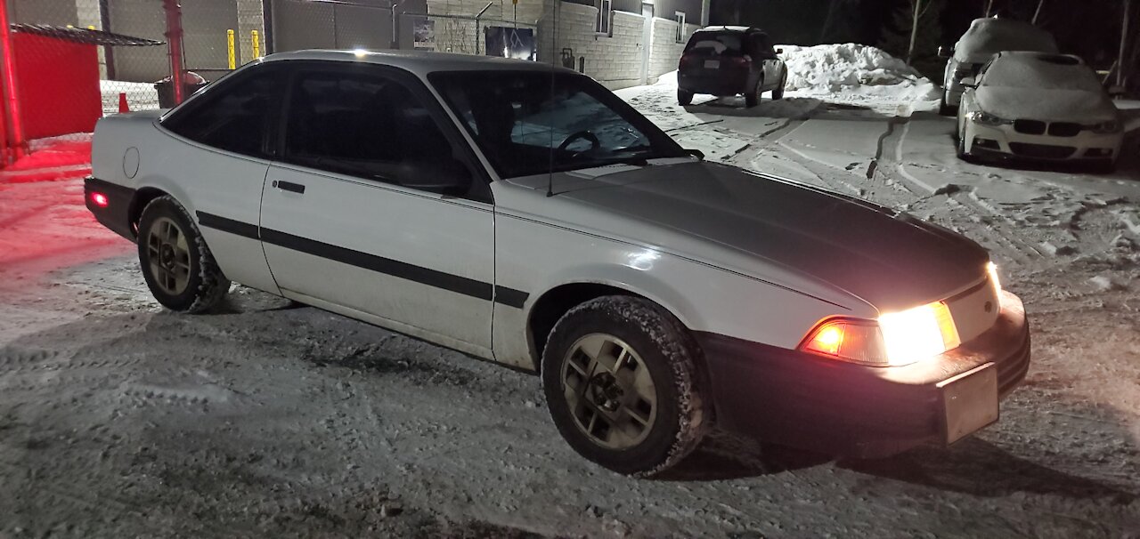
[[[424,50],[328,50],[311,49],[277,52],[262,58],[263,62],[320,60],[356,62],[400,67],[421,76],[445,71],[536,71],[575,73],[573,70],[556,67],[539,62],[498,58],[494,56],[457,55]]]

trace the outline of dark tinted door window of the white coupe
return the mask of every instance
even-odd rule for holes
[[[302,71],[287,114],[291,163],[432,191],[447,186],[417,178],[455,173],[435,170],[455,166],[455,153],[422,99],[383,73]]]

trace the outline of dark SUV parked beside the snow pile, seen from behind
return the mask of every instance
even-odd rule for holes
[[[763,30],[748,26],[709,26],[693,32],[677,67],[677,101],[693,103],[697,93],[717,97],[744,95],[755,107],[760,96],[783,99],[788,66]]]

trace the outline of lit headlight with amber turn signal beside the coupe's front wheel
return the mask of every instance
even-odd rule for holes
[[[897,367],[961,344],[943,302],[881,315],[878,320],[832,318],[819,324],[799,350],[853,364]]]

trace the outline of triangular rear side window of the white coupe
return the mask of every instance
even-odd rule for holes
[[[162,125],[174,133],[218,149],[268,157],[271,119],[282,95],[284,72],[253,67],[234,81],[206,91],[189,108],[176,112]]]

